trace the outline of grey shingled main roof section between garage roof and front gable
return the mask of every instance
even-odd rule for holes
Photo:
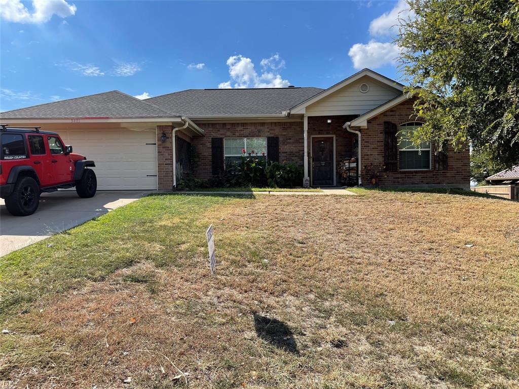
[[[321,88],[188,89],[146,99],[192,119],[276,115],[323,91]]]

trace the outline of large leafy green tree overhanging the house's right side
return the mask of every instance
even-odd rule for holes
[[[407,0],[397,44],[430,138],[470,144],[495,169],[519,163],[519,1]]]

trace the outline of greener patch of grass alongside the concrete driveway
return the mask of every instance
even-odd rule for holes
[[[0,320],[28,311],[35,300],[102,281],[138,262],[185,266],[179,258],[193,256],[207,244],[207,225],[200,215],[213,206],[240,201],[247,200],[147,196],[10,253],[0,258]],[[139,282],[138,276],[128,281]]]

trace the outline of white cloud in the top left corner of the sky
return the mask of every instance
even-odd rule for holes
[[[65,0],[33,0],[31,13],[21,0],[0,0],[0,16],[10,22],[45,23],[53,15],[66,18],[76,13],[76,6]]]

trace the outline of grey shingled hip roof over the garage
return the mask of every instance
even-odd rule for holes
[[[2,120],[30,118],[154,118],[172,114],[118,90],[13,109]],[[173,115],[176,116],[176,115]]]

